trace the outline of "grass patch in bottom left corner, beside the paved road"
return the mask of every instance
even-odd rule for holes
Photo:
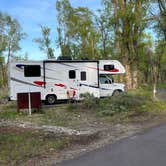
[[[30,158],[49,155],[72,143],[68,137],[56,138],[41,131],[0,128],[0,165],[18,165]]]

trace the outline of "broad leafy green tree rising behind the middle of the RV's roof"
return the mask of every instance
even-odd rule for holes
[[[95,59],[98,57],[99,35],[94,25],[93,13],[85,7],[73,8],[68,0],[56,3],[58,19],[58,45],[62,56],[73,59]]]

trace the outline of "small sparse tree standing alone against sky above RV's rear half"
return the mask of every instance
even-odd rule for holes
[[[51,29],[47,26],[40,26],[42,37],[35,38],[33,41],[39,44],[39,48],[41,51],[47,54],[47,58],[54,58],[54,50],[51,48],[51,39],[50,32]]]

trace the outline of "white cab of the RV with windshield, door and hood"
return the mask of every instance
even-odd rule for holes
[[[100,97],[112,96],[124,91],[124,84],[115,83],[112,75],[100,74],[99,76]]]

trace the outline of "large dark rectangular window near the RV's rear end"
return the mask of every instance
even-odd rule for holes
[[[40,65],[26,65],[24,66],[24,76],[25,77],[40,77]]]

